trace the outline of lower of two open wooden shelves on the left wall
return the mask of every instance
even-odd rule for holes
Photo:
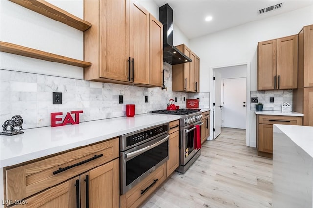
[[[45,51],[36,50],[33,48],[27,48],[21,45],[15,45],[8,42],[0,41],[0,51],[6,53],[17,54],[21,56],[27,56],[35,59],[41,59],[50,62],[64,63],[67,65],[78,66],[78,67],[88,67],[91,66],[90,62],[84,62],[77,59],[72,59],[65,56],[60,56],[53,53],[48,53]]]

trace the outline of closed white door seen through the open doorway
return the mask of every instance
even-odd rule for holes
[[[223,127],[246,129],[246,77],[223,79]]]

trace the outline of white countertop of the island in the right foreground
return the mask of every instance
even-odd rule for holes
[[[274,133],[286,134],[295,144],[313,157],[313,127],[302,125],[274,124]]]

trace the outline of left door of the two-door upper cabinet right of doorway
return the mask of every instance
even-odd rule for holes
[[[258,44],[258,90],[275,89],[277,40]]]

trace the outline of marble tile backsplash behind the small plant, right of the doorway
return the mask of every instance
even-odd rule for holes
[[[291,105],[292,111],[292,98],[293,98],[293,90],[268,90],[268,91],[251,91],[250,92],[250,101],[251,98],[258,97],[258,103],[263,103],[263,110],[273,110],[273,111],[281,111],[282,104],[287,102]],[[270,103],[269,98],[273,97],[274,102]],[[255,104],[250,103],[250,110],[255,110]]]

